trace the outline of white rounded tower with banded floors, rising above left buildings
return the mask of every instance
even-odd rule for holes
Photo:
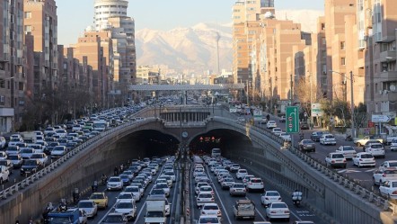
[[[94,2],[95,31],[107,29],[110,17],[127,16],[128,1],[126,0],[95,0]]]

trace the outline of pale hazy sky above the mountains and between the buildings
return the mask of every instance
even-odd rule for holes
[[[93,0],[57,0],[58,44],[68,45],[93,24]],[[232,22],[235,0],[129,0],[128,16],[136,31],[149,28],[171,30],[199,22]],[[323,0],[276,0],[276,10],[323,10]],[[78,7],[76,7],[78,5]]]

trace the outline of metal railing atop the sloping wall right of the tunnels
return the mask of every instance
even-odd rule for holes
[[[214,117],[215,121],[223,121],[229,125],[235,126],[235,125],[243,125],[247,126],[249,125],[252,130],[255,130],[259,132],[262,135],[265,135],[269,139],[273,140],[274,142],[277,142],[280,148],[284,146],[284,139],[281,139],[280,137],[274,135],[271,133],[269,130],[263,130],[260,129],[259,127],[252,126],[251,124],[247,122],[236,122],[231,119],[226,119],[222,117]],[[318,161],[314,160],[312,157],[307,156],[305,153],[303,153],[299,148],[296,148],[295,146],[290,146],[288,148],[289,151],[291,151],[293,154],[295,154],[297,157],[302,159],[305,163],[307,163],[309,166],[312,166],[314,169],[317,171],[321,172],[322,174],[328,176],[332,181],[339,183],[340,185],[343,185],[345,188],[350,190],[352,193],[356,193],[357,195],[360,195],[360,197],[363,200],[366,200],[367,202],[372,202],[374,203],[377,207],[382,208],[384,211],[392,211],[393,214],[397,213],[397,203],[391,202],[387,199],[384,199],[384,197],[378,195],[375,192],[367,190],[365,187],[360,185],[359,183],[349,180],[343,175],[340,175],[339,173],[335,172],[334,170],[331,170],[330,168],[324,166],[322,163],[319,163]]]

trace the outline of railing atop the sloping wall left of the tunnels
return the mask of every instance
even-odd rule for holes
[[[95,144],[95,142],[99,139],[111,139],[113,138],[115,135],[118,134],[118,130],[122,130],[127,128],[128,126],[131,125],[137,125],[140,124],[142,122],[151,122],[151,121],[155,121],[155,119],[145,119],[145,120],[138,120],[138,121],[128,121],[126,123],[123,123],[113,129],[110,130],[105,130],[104,132],[101,132],[99,135],[88,139],[87,141],[85,141],[84,143],[80,144],[79,146],[77,146],[76,148],[70,150],[69,152],[66,153],[66,155],[64,155],[63,157],[58,158],[57,160],[55,160],[54,162],[52,162],[51,164],[49,164],[49,166],[46,166],[44,168],[42,168],[40,171],[36,172],[33,175],[30,175],[26,178],[24,178],[22,181],[13,184],[12,186],[2,190],[0,192],[0,199],[7,199],[8,196],[12,196],[14,193],[17,193],[19,191],[21,191],[22,189],[28,187],[30,184],[33,184],[35,181],[40,180],[40,178],[48,175],[51,171],[55,170],[58,166],[61,166],[62,164],[64,164],[67,160],[69,160],[70,158],[74,157],[77,153],[79,153],[80,151],[84,150],[84,148],[87,148],[88,146],[92,146],[93,144]]]

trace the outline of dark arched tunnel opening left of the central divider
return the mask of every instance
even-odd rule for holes
[[[158,130],[139,130],[120,139],[118,149],[127,149],[128,158],[163,157],[175,155],[180,141]]]

